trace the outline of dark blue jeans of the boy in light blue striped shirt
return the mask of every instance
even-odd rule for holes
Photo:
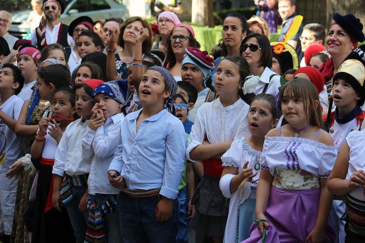
[[[120,229],[123,243],[172,243],[176,237],[175,216],[178,201],[174,200],[173,216],[156,222],[155,210],[161,195],[132,197],[123,192],[118,196]]]

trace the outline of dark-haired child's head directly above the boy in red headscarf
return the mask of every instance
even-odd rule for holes
[[[75,69],[75,79],[73,81],[73,86],[81,83],[82,81],[89,79],[103,79],[103,72],[99,65],[92,62],[82,63]]]

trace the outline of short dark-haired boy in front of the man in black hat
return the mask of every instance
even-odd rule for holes
[[[100,52],[104,47],[100,36],[91,30],[81,32],[77,42],[77,53],[81,58],[92,52]]]

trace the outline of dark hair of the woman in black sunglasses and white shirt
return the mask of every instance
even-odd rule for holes
[[[242,43],[246,43],[251,38],[256,38],[258,46],[261,48],[260,67],[271,68],[273,66],[273,52],[271,51],[270,40],[266,35],[251,33],[243,39]]]

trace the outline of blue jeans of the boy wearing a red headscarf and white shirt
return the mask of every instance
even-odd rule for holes
[[[84,187],[73,187],[72,194],[73,200],[69,202],[65,208],[70,216],[71,225],[75,231],[74,235],[77,243],[83,243],[85,241],[88,213],[82,213],[78,209],[82,196],[85,194],[86,189]]]

